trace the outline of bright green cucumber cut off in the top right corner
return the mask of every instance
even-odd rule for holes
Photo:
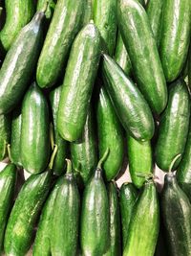
[[[163,3],[159,55],[166,81],[176,80],[183,68],[190,42],[190,0]]]

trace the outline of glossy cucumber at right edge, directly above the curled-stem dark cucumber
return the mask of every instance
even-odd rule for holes
[[[190,97],[183,80],[172,83],[169,88],[168,105],[160,117],[159,137],[155,149],[156,163],[168,171],[176,155],[184,151],[190,117]],[[173,166],[176,170],[180,158]]]

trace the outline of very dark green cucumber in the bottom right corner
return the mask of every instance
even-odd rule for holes
[[[167,174],[161,193],[161,214],[170,255],[191,255],[191,204],[175,175]]]

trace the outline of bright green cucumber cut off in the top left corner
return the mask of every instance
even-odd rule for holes
[[[5,0],[6,23],[0,33],[0,41],[8,51],[21,29],[27,25],[34,14],[33,0]]]

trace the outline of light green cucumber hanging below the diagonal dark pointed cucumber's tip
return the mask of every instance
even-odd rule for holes
[[[153,172],[151,141],[140,142],[127,135],[127,152],[132,182],[140,188],[145,178],[138,175],[148,175]]]

